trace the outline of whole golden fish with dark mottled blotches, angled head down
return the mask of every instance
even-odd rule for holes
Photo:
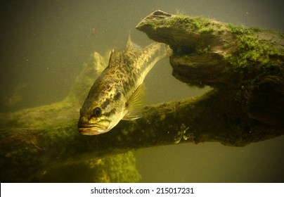
[[[94,82],[80,110],[79,133],[103,134],[120,120],[141,117],[143,80],[153,65],[170,53],[169,46],[161,43],[139,49],[130,36],[125,50],[113,50],[108,67]]]

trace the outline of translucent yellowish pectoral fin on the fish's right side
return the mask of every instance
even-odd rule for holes
[[[145,86],[141,84],[125,104],[127,113],[122,120],[135,120],[142,117],[141,111],[145,103],[145,98]]]

